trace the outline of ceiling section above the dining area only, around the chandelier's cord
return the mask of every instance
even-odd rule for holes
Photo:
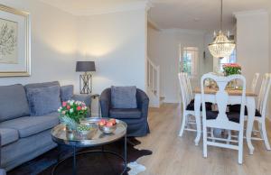
[[[271,0],[224,0],[223,25],[231,28],[233,13],[269,10]],[[220,28],[220,0],[152,0],[149,17],[160,28],[214,30]]]

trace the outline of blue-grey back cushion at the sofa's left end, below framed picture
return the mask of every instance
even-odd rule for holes
[[[0,122],[29,115],[29,106],[23,85],[0,87]]]

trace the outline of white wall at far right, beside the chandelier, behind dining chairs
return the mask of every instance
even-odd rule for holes
[[[269,24],[266,12],[236,14],[237,61],[247,79],[248,88],[256,72],[269,71]]]

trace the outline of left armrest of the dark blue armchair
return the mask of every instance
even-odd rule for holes
[[[109,116],[109,109],[111,106],[111,88],[106,88],[99,97],[99,105],[102,117]]]

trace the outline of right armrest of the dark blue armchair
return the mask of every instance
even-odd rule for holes
[[[148,109],[149,109],[149,97],[145,94],[145,92],[141,89],[136,89],[136,102],[137,108],[141,110],[142,117],[147,117]]]

